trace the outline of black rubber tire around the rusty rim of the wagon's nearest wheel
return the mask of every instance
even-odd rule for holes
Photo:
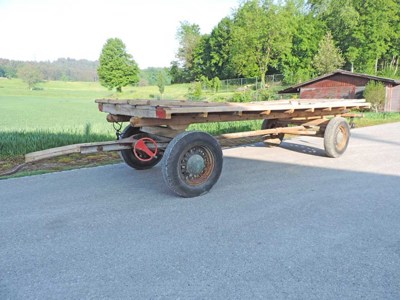
[[[185,154],[196,146],[205,147],[212,156],[213,168],[206,181],[191,185],[181,177],[181,161]],[[162,174],[168,188],[175,194],[189,198],[206,194],[218,181],[223,164],[223,155],[217,140],[205,132],[186,131],[177,135],[167,146],[162,162]]]

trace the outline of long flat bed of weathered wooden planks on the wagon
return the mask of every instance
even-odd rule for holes
[[[189,125],[257,119],[308,118],[341,115],[352,109],[369,108],[363,99],[302,99],[251,103],[180,100],[98,99],[99,110],[109,122],[130,121],[134,127]]]

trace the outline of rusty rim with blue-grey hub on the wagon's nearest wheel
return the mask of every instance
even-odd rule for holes
[[[214,165],[215,159],[210,149],[195,146],[183,154],[179,175],[189,185],[200,185],[211,176]]]

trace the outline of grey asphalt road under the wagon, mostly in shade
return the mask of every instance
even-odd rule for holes
[[[205,196],[159,166],[0,181],[0,299],[400,299],[400,123],[224,151]]]

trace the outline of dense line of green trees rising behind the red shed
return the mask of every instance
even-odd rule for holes
[[[400,1],[248,0],[209,34],[181,22],[173,82],[284,74],[297,83],[337,68],[398,77]]]

